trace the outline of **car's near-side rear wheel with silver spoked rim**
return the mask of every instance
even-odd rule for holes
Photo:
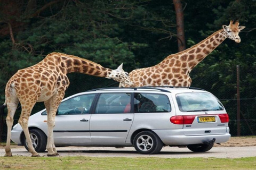
[[[158,154],[163,142],[154,132],[142,131],[135,135],[133,146],[140,154]]]

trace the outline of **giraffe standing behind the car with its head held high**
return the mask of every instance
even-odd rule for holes
[[[221,30],[214,32],[200,43],[177,54],[167,56],[161,63],[133,70],[129,73],[135,87],[142,86],[182,86],[190,87],[189,73],[194,67],[209,55],[226,38],[240,43],[238,33],[244,26],[238,26],[239,22],[230,21],[229,25],[222,25]],[[128,84],[119,84],[119,87],[129,87]]]

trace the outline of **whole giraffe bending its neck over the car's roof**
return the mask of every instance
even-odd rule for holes
[[[118,69],[110,70],[89,60],[61,53],[51,53],[41,62],[19,70],[6,84],[5,103],[1,108],[2,114],[5,106],[8,109],[6,117],[7,141],[5,156],[12,156],[10,148],[11,128],[13,125],[13,116],[19,103],[21,104],[22,111],[18,122],[25,133],[29,152],[31,152],[33,157],[39,156],[31,143],[28,119],[35,103],[40,101],[44,101],[47,111],[47,156],[59,155],[53,141],[54,120],[58,106],[69,86],[69,80],[66,74],[72,72],[108,79],[112,78],[118,82],[129,83],[129,86],[132,86],[128,73],[122,70],[122,64]]]

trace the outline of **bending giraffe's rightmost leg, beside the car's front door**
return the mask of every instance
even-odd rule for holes
[[[50,104],[50,112],[49,114],[47,113],[47,125],[48,125],[48,138],[47,138],[47,145],[46,145],[46,149],[48,151],[47,156],[59,155],[54,145],[53,128],[55,126],[55,115],[64,95],[65,95],[64,90],[59,91],[49,101],[46,101],[46,103]]]

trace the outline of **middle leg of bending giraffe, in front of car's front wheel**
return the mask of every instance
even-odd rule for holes
[[[33,103],[33,104],[31,104]],[[30,138],[29,130],[28,130],[28,119],[30,116],[30,113],[35,105],[36,101],[30,101],[29,103],[21,103],[21,114],[19,118],[19,124],[21,125],[23,132],[25,134],[27,143],[28,143],[28,150],[32,154],[32,157],[39,157],[39,154],[35,151],[32,141]]]

